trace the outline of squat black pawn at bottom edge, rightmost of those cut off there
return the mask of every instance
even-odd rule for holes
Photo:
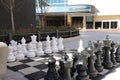
[[[76,76],[75,80],[90,80],[89,79],[89,75],[87,74],[87,67],[82,65],[82,64],[78,64],[76,66],[77,69],[77,73],[78,75]]]

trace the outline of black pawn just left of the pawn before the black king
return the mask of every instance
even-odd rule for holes
[[[96,53],[96,57],[97,59],[95,60],[95,68],[97,69],[98,72],[102,72],[103,71],[103,66],[102,66],[102,62],[101,62],[101,51],[97,51]]]

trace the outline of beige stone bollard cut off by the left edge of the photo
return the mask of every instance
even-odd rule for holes
[[[7,54],[7,44],[0,42],[0,76],[3,76],[7,72]]]

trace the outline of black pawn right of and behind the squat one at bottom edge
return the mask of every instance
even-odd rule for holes
[[[95,78],[98,74],[98,71],[95,69],[95,66],[94,66],[94,56],[88,57],[87,67],[88,67],[88,74],[90,78]]]

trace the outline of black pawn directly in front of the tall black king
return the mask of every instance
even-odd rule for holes
[[[113,68],[113,63],[111,62],[110,58],[110,47],[105,46],[103,48],[104,56],[103,56],[103,66],[105,69],[111,69]]]

